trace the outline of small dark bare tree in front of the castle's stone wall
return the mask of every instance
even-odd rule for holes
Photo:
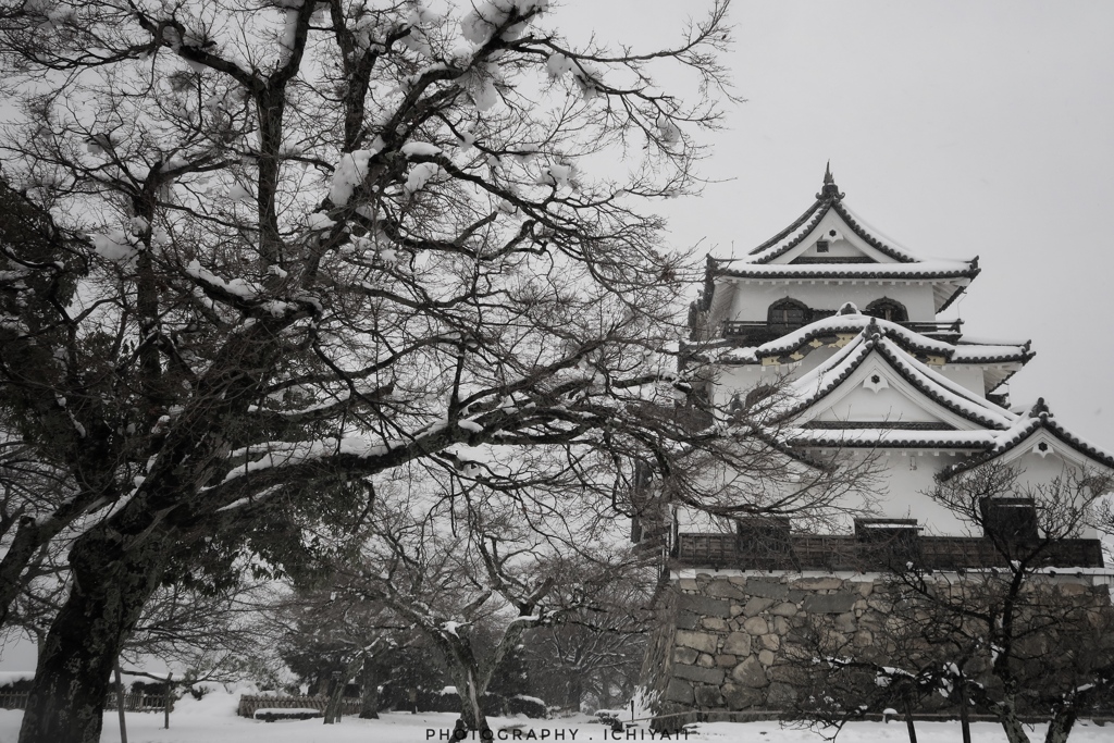
[[[957,540],[967,549],[947,559],[906,549],[889,561],[873,599],[888,609],[871,647],[832,644],[817,628],[810,647],[829,669],[820,677],[847,676],[844,693],[828,695],[825,720],[895,700],[908,717],[938,693],[960,712],[964,740],[974,707],[996,715],[1010,743],[1028,743],[1024,715],[1048,716],[1046,743],[1066,741],[1078,715],[1108,705],[1114,690],[1114,609],[1107,588],[1083,575],[1101,564],[1101,548],[1078,539],[1102,517],[1110,487],[1085,470],[1033,481],[998,462],[940,481],[934,500],[981,536]]]

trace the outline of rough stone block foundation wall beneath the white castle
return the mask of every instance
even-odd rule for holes
[[[825,646],[844,648],[841,655],[885,663],[883,628],[897,616],[888,588],[862,575],[700,574],[673,580],[667,590],[643,667],[661,715],[791,712],[814,673],[819,635]],[[1057,590],[1110,616],[1105,587]],[[934,695],[920,708],[939,712],[948,704]]]

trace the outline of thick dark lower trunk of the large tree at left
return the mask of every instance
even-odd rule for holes
[[[97,743],[105,697],[125,638],[166,568],[158,540],[124,553],[98,529],[70,553],[72,588],[39,653],[20,743]]]

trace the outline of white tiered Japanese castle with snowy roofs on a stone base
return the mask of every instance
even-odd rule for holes
[[[1000,563],[978,525],[930,497],[938,482],[989,462],[1033,483],[1114,470],[1114,457],[1043,401],[1009,409],[1004,384],[1034,356],[1029,343],[968,339],[961,321],[938,319],[979,271],[977,257],[922,258],[867,226],[830,170],[781,233],[743,258],[709,260],[691,312],[694,344],[715,372],[704,394],[730,408],[778,389],[789,450],[869,452],[882,487],[872,510],[846,519],[841,532],[805,532],[789,518],[710,526],[672,509],[665,618],[644,667],[659,712],[791,708],[798,691],[782,661],[794,628],[822,617],[869,646],[880,555],[892,558],[895,548],[929,570]],[[1034,502],[983,507],[986,525],[1036,538]],[[1058,539],[1043,559],[1071,567],[1087,590],[1107,584],[1093,530]]]

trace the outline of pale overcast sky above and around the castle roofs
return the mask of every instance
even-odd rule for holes
[[[550,20],[641,46],[710,4],[566,0]],[[973,335],[1033,340],[1014,403],[1044,395],[1114,450],[1114,3],[736,0],[731,18],[747,102],[702,166],[725,182],[668,205],[673,243],[745,254],[812,204],[830,158],[899,244],[980,256],[958,313]]]

